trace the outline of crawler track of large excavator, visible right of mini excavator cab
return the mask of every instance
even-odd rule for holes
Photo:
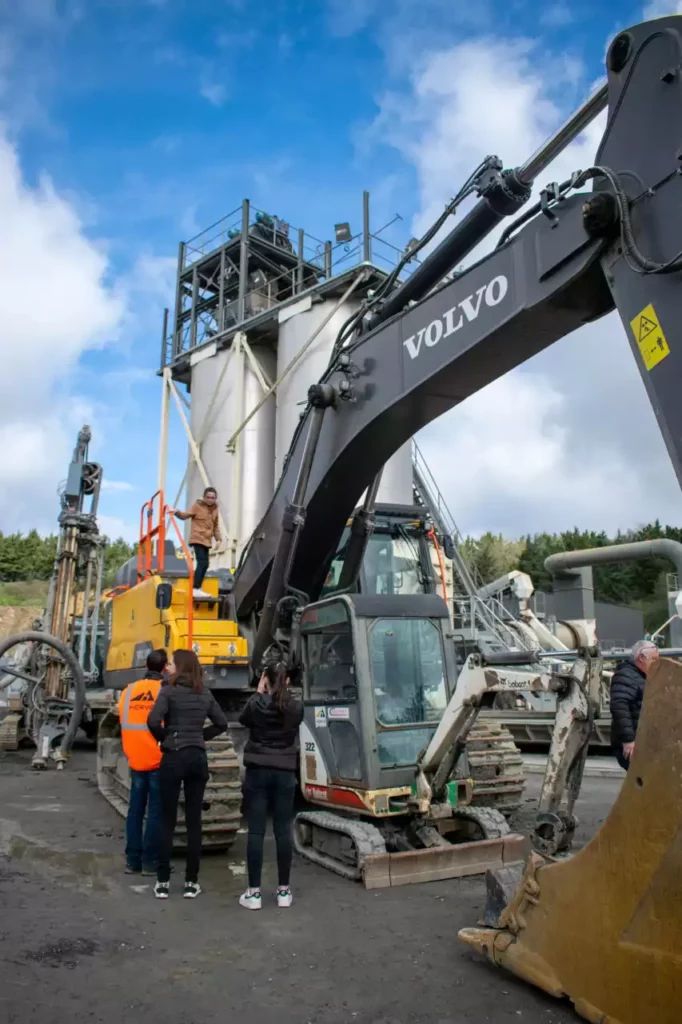
[[[472,807],[511,814],[521,806],[525,790],[523,758],[514,738],[499,722],[476,722],[466,744],[473,779]]]

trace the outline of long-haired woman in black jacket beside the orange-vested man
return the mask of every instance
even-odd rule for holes
[[[162,686],[146,726],[161,743],[159,768],[161,791],[161,845],[155,894],[167,899],[170,859],[177,819],[180,787],[184,786],[184,820],[187,858],[184,895],[199,896],[199,863],[202,853],[202,805],[209,778],[206,741],[227,728],[227,719],[212,693],[204,689],[202,667],[191,650],[176,650],[168,663],[170,686]],[[204,726],[206,719],[211,725]]]

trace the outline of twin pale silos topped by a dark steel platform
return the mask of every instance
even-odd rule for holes
[[[358,258],[349,266],[353,243]],[[309,385],[326,371],[342,324],[385,276],[371,261],[367,196],[363,234],[336,246],[246,200],[180,245],[162,370],[191,398],[185,500],[207,481],[218,490],[226,543],[214,567],[237,565],[272,497]],[[409,442],[387,464],[379,500],[412,502]]]

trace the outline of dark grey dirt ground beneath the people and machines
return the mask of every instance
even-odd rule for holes
[[[237,898],[244,837],[207,857],[205,893],[155,900],[123,873],[123,822],[94,784],[94,755],[35,774],[0,755],[0,1021],[4,1024],[461,1024],[578,1018],[458,941],[483,903],[480,879],[368,892],[296,860],[294,905]],[[581,838],[621,782],[585,780]],[[529,780],[528,800],[540,785]],[[521,820],[531,816],[526,804]]]

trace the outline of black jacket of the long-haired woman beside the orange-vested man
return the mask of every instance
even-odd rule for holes
[[[209,718],[212,725],[204,727]],[[184,746],[205,749],[206,740],[219,736],[227,728],[227,719],[212,693],[195,693],[178,678],[174,686],[162,686],[146,727],[161,743],[165,754]]]

